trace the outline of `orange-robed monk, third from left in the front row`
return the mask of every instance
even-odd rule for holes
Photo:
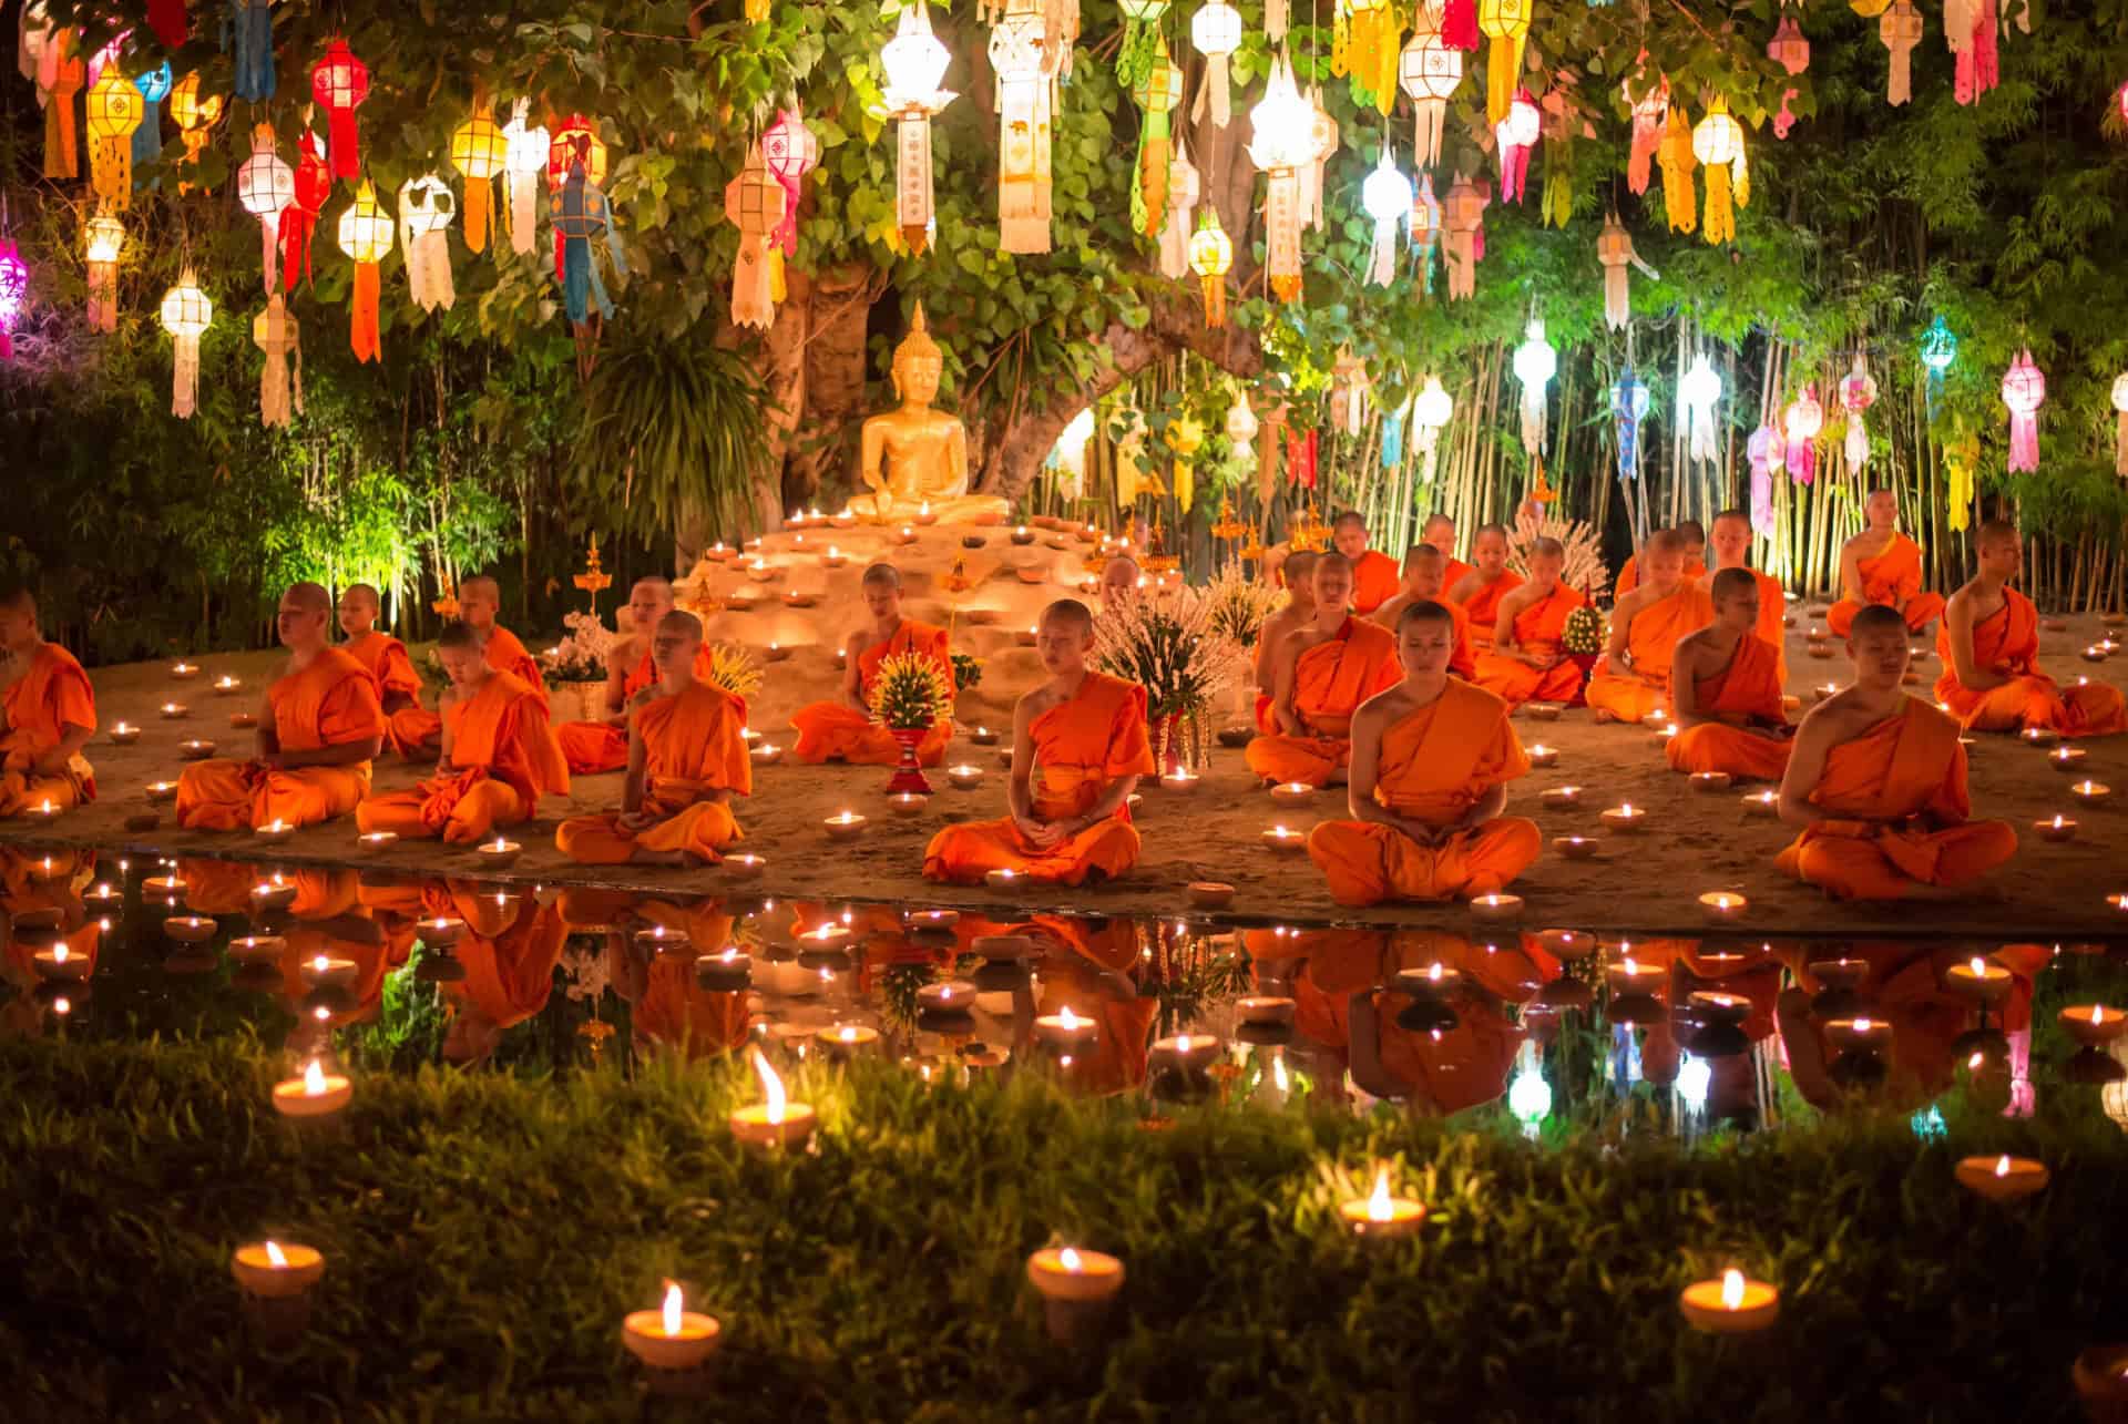
[[[436,775],[411,792],[355,807],[364,832],[470,845],[498,826],[521,826],[541,796],[568,794],[568,766],[547,726],[547,707],[511,673],[496,673],[468,624],[445,624],[436,653],[451,677]]]

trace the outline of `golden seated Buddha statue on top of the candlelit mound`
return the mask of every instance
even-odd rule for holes
[[[900,409],[864,421],[864,483],[851,509],[883,524],[913,519],[924,507],[941,524],[1002,524],[1011,504],[994,494],[968,494],[968,430],[938,411],[945,355],[924,326],[924,307],[894,347],[894,394]]]

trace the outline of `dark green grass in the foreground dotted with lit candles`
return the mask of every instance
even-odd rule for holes
[[[2128,1339],[2128,1147],[2094,1090],[2030,1122],[1945,1103],[1694,1149],[1585,1128],[1136,1105],[1021,1077],[798,1077],[817,1154],[738,1152],[741,1064],[566,1081],[423,1069],[296,1137],[245,1039],[0,1045],[9,1420],[643,1418],[617,1343],[660,1277],[726,1324],[719,1420],[2066,1420],[2068,1360]],[[1996,1209],[1968,1152],[2054,1186]],[[1424,1239],[1364,1249],[1336,1201],[1398,1162]],[[321,1247],[309,1341],[245,1332],[228,1254]],[[1041,1337],[1024,1256],[1126,1258],[1090,1352]],[[1756,1343],[1675,1292],[1783,1288]]]

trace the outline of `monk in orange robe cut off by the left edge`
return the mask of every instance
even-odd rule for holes
[[[81,756],[94,734],[89,675],[45,641],[28,590],[0,594],[0,817],[96,800],[96,777]]]

